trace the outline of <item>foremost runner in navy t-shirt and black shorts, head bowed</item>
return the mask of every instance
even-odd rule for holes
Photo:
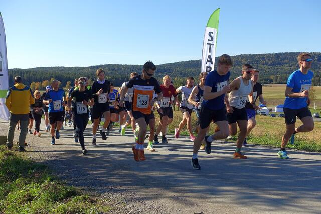
[[[212,120],[219,127],[219,130],[215,132],[214,135],[205,137],[206,153],[211,153],[211,143],[213,140],[224,139],[229,135],[224,98],[226,93],[230,90],[227,82],[231,75],[229,70],[232,66],[233,62],[231,57],[227,54],[223,54],[219,57],[217,68],[210,72],[206,77],[203,94],[205,100],[203,101],[200,110],[199,131],[194,140],[193,156],[191,160],[193,169],[201,169],[197,153]]]

